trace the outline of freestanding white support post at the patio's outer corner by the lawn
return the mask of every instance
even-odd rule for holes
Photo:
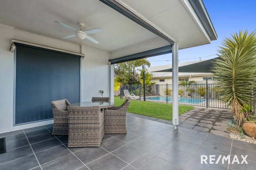
[[[175,130],[177,130],[177,125],[179,125],[179,58],[178,58],[178,44],[174,43],[172,47],[172,103],[173,103],[173,125],[175,125]]]

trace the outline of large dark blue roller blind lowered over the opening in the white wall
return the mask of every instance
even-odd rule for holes
[[[53,118],[51,101],[80,101],[79,56],[15,45],[15,124]]]

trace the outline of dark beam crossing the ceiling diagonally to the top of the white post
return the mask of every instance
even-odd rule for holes
[[[168,41],[170,44],[174,44],[174,41],[172,39],[170,39],[169,37],[164,35],[162,32],[160,32],[159,30],[157,30],[156,28],[151,26],[151,24],[147,23],[146,21],[144,21],[143,19],[138,17],[136,14],[134,14],[132,11],[130,11],[126,7],[119,4],[117,1],[115,1],[115,0],[100,0],[100,1],[103,2],[104,4],[106,4],[107,6],[115,9],[122,15],[128,17],[129,19],[136,22],[137,24],[143,26],[144,28],[151,31],[152,33],[158,35],[159,37],[162,37],[163,39]]]

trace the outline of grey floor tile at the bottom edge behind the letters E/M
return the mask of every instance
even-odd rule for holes
[[[209,157],[209,156],[208,156]],[[208,158],[209,160],[209,158]],[[200,157],[193,157],[185,167],[186,170],[227,170],[226,167],[218,164],[201,164]]]

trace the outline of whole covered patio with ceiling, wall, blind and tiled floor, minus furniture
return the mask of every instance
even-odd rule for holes
[[[81,40],[72,35],[78,22],[85,23],[83,30],[102,32]],[[201,164],[200,155],[233,160],[241,154],[248,155],[243,168],[254,168],[250,144],[177,127],[178,50],[216,38],[201,0],[1,1],[0,138],[6,138],[7,152],[0,154],[0,169],[239,169]],[[68,136],[52,135],[51,101],[110,97],[113,102],[114,64],[167,53],[173,61],[173,125],[128,113],[128,133],[105,134],[98,148],[68,148]]]

